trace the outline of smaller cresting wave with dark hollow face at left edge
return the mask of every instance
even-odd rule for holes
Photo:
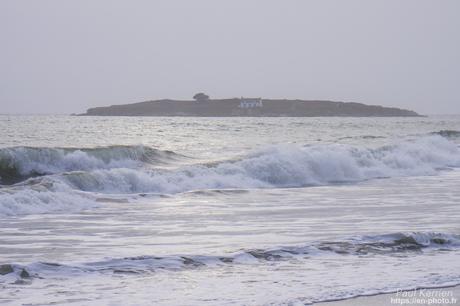
[[[166,163],[178,156],[141,145],[87,149],[4,148],[0,149],[0,183],[12,184],[34,176],[68,171],[139,168],[144,163]]]

